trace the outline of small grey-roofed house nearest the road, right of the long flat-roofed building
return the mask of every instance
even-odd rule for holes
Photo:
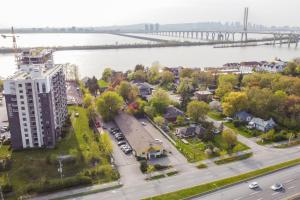
[[[202,138],[206,129],[199,125],[190,125],[189,127],[180,127],[176,129],[175,135],[180,138],[191,138],[198,136]]]

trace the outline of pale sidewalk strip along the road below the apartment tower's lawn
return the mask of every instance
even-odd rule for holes
[[[107,190],[112,190],[115,188],[122,187],[123,185],[119,183],[118,181],[110,182],[110,183],[104,183],[99,185],[92,185],[89,187],[82,187],[82,188],[76,188],[76,189],[70,189],[70,190],[64,190],[61,192],[55,192],[51,194],[47,194],[44,196],[37,196],[34,198],[31,198],[33,200],[50,200],[50,199],[65,199],[65,198],[72,198],[92,193],[98,193],[98,192],[104,192]]]

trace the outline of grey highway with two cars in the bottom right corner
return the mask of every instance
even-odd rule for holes
[[[256,181],[259,188],[249,189],[250,182]],[[218,190],[214,193],[194,198],[195,200],[277,200],[297,194],[300,191],[300,165],[278,171],[249,182]],[[274,183],[283,184],[284,189],[273,191],[270,186]]]

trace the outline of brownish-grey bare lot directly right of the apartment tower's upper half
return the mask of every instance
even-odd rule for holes
[[[75,81],[67,81],[67,104],[68,105],[81,105],[82,93],[79,89],[78,84]]]

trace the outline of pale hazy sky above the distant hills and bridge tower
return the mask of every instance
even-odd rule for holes
[[[243,21],[300,26],[300,0],[0,0],[0,27]]]

